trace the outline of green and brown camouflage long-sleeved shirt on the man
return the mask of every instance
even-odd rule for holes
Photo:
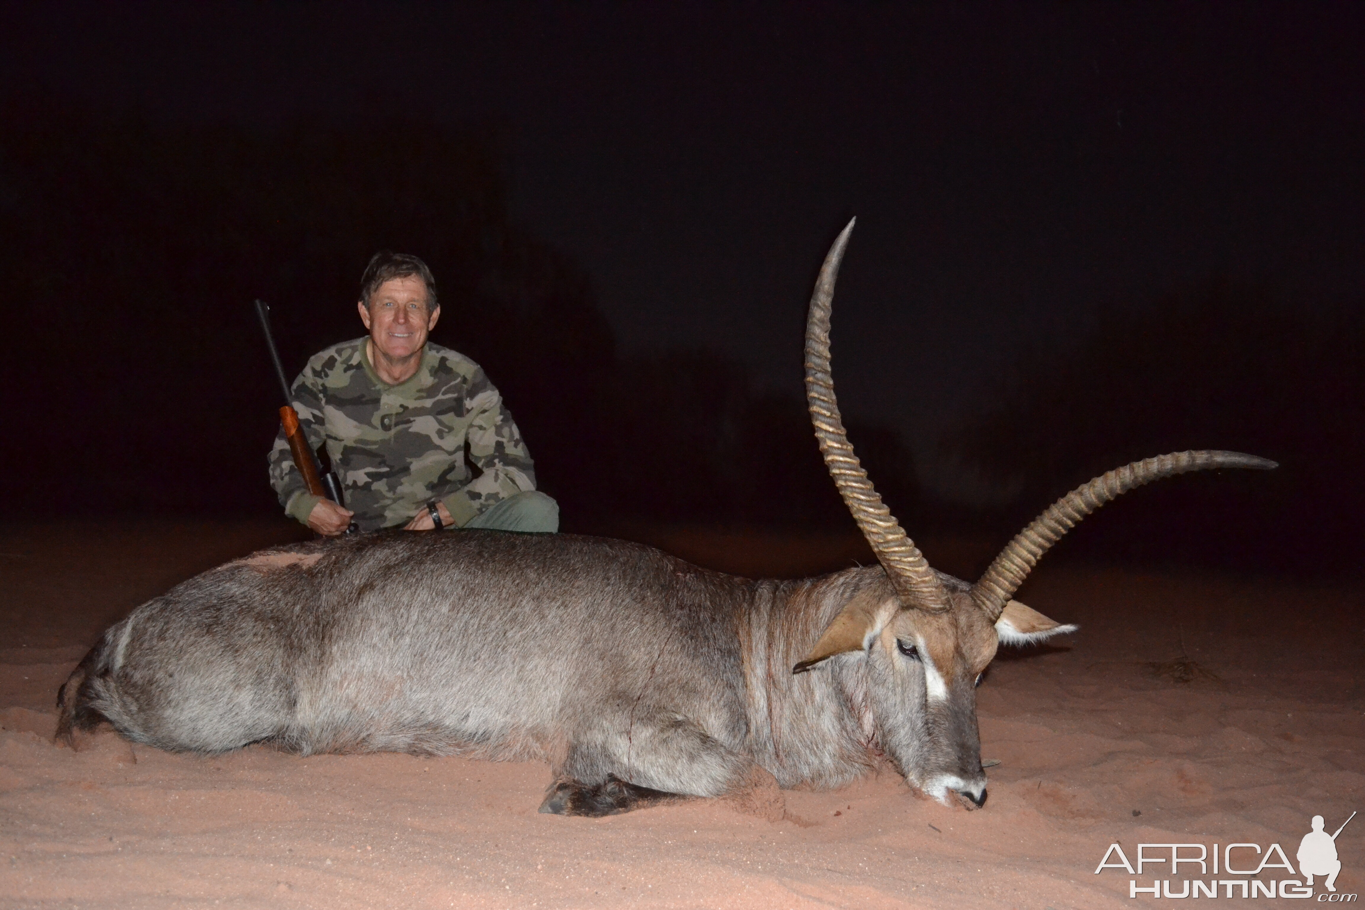
[[[390,386],[375,375],[366,341],[318,353],[291,389],[299,426],[313,449],[326,442],[362,531],[404,525],[433,498],[463,525],[535,490],[521,432],[479,364],[427,342],[416,374]],[[270,486],[285,512],[307,524],[318,498],[293,465],[283,428],[270,449]]]

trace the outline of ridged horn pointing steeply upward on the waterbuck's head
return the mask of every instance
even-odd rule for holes
[[[872,551],[886,568],[901,604],[938,613],[949,608],[947,592],[930,569],[924,554],[915,548],[891,510],[876,495],[867,471],[859,464],[849,445],[848,431],[839,417],[839,405],[834,398],[834,378],[830,374],[830,308],[834,303],[834,280],[839,274],[839,261],[848,246],[853,224],[849,221],[834,240],[820,277],[815,281],[811,295],[811,311],[805,321],[805,404],[815,424],[815,438],[820,441],[820,454],[824,467],[830,469],[834,484],[844,497],[844,503],[853,513],[853,520],[863,536],[872,544]]]

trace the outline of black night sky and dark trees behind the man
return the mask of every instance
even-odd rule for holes
[[[1358,568],[1360,4],[5,4],[11,521],[272,514],[277,386],[415,252],[565,528],[845,528],[801,401],[912,536]]]

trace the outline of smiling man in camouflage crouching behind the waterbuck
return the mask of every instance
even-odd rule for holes
[[[270,486],[285,512],[324,535],[351,521],[362,531],[558,531],[558,505],[535,490],[498,390],[476,363],[427,342],[441,304],[426,263],[375,254],[356,306],[369,337],[314,356],[291,390],[308,445],[326,442],[349,508],[307,491],[281,430]]]

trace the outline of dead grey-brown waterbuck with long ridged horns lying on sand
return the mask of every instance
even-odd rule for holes
[[[1070,632],[1011,600],[1077,521],[1149,480],[1274,468],[1181,452],[1111,471],[968,584],[935,572],[859,465],[830,377],[834,280],[811,299],[805,386],[820,452],[879,565],[752,581],[573,535],[381,532],[265,550],[134,610],[57,697],[59,738],[104,720],[161,749],[253,742],[543,759],[542,812],[670,795],[838,787],[886,756],[942,802],[986,802],[975,686],[999,643]]]

